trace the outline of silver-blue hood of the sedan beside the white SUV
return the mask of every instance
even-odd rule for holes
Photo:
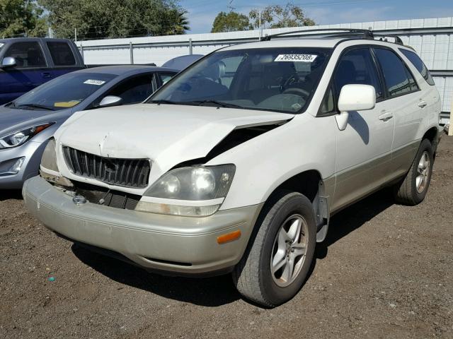
[[[38,109],[13,109],[5,106],[0,107],[0,136],[18,131],[23,128],[41,124],[44,122],[55,122],[71,110],[47,111]]]

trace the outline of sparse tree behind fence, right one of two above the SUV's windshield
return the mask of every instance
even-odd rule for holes
[[[248,13],[254,28],[260,28],[260,11],[253,9]],[[299,26],[313,26],[314,20],[306,18],[301,7],[292,3],[285,6],[270,5],[261,11],[261,25],[264,28],[285,28]]]

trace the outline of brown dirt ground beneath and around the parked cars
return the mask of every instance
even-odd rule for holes
[[[299,294],[263,309],[228,275],[162,277],[74,246],[3,191],[0,338],[453,338],[452,196],[444,136],[423,203],[381,191],[334,216]]]

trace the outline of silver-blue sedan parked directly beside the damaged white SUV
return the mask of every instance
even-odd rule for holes
[[[83,69],[0,107],[0,189],[20,189],[38,174],[48,139],[74,112],[142,102],[176,73],[129,65]]]

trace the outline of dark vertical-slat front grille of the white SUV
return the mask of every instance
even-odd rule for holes
[[[151,164],[147,159],[100,157],[63,146],[64,160],[76,175],[97,179],[117,186],[144,188],[148,186]]]

